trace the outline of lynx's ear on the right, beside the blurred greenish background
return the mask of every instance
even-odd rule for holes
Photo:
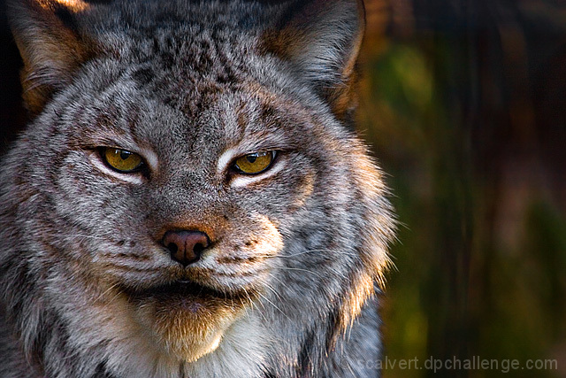
[[[355,106],[364,29],[363,0],[295,1],[265,42],[268,50],[297,66],[341,119]]]

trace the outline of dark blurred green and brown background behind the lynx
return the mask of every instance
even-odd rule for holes
[[[383,376],[566,377],[566,2],[365,3],[359,130],[402,223]],[[1,5],[0,152],[26,122]]]

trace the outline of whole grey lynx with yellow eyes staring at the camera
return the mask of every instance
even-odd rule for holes
[[[0,376],[375,377],[361,1],[11,0]]]

